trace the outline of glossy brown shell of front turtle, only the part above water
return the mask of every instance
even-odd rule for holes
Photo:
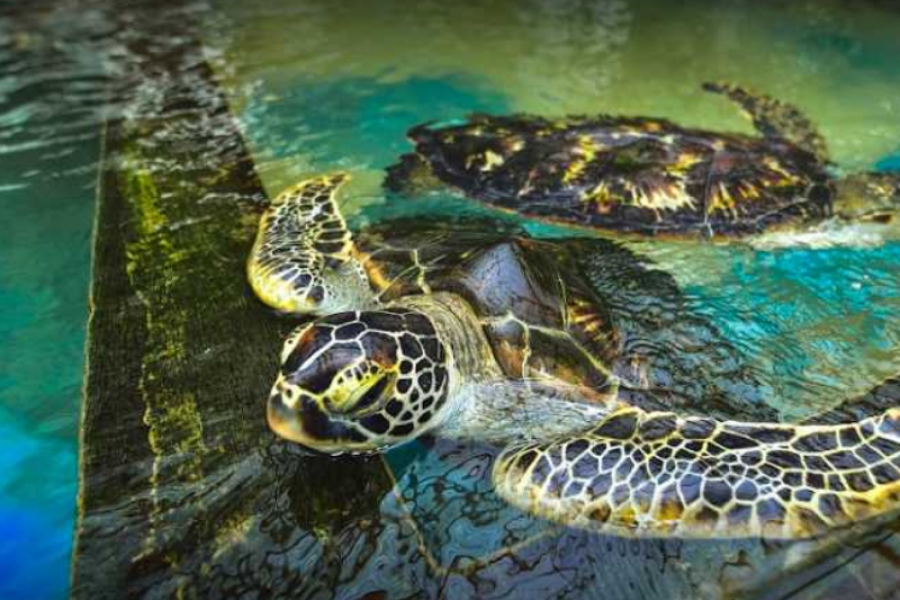
[[[615,329],[563,246],[468,219],[382,223],[355,240],[382,302],[438,292],[467,300],[511,379],[570,385],[598,400],[612,391]]]

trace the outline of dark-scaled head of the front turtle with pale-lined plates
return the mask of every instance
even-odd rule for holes
[[[269,426],[313,450],[375,452],[418,437],[445,416],[447,352],[419,312],[330,315],[294,332],[281,358]]]

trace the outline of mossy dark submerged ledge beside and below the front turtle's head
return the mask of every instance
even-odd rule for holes
[[[265,194],[187,33],[135,43],[105,132],[74,598],[785,597],[871,545],[601,536],[507,506],[476,443],[331,459],[277,439],[296,322],[245,283]]]

